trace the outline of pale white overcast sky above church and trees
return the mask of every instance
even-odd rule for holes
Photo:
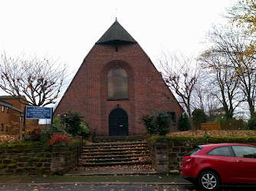
[[[162,51],[202,50],[236,0],[0,0],[0,50],[59,58],[75,71],[115,18],[156,63]]]

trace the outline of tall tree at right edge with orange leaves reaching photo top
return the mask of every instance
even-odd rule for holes
[[[215,52],[228,57],[235,78],[245,95],[251,118],[256,118],[256,1],[238,0],[227,8],[231,25],[215,33],[212,43]],[[226,27],[227,28],[227,27]]]

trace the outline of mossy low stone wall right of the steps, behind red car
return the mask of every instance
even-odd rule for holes
[[[148,139],[152,165],[159,174],[179,173],[182,157],[199,144],[247,143],[256,144],[256,138],[187,138],[156,136]]]

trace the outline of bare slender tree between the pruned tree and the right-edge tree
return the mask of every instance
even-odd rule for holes
[[[202,53],[200,60],[203,68],[209,70],[205,80],[209,94],[222,103],[225,118],[233,118],[235,108],[244,101],[233,67],[225,54],[211,50]]]

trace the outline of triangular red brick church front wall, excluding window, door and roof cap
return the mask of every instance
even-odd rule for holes
[[[107,99],[107,73],[116,66],[128,74],[129,99]],[[182,108],[176,101],[162,76],[137,43],[95,44],[74,76],[54,115],[77,111],[97,136],[109,136],[109,115],[114,108],[122,108],[128,115],[129,135],[145,132],[140,118],[153,110],[176,113]],[[177,130],[177,122],[171,131]]]

